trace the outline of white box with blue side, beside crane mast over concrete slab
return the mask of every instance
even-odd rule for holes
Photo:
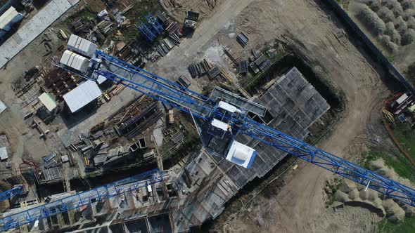
[[[256,155],[257,152],[255,149],[233,140],[229,147],[228,154],[226,154],[226,160],[238,164],[239,166],[243,166],[244,168],[250,168]]]

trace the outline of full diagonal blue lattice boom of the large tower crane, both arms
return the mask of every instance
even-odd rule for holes
[[[226,121],[231,126],[232,134],[234,135],[243,133],[344,178],[353,180],[360,185],[376,190],[385,196],[415,206],[415,189],[411,187],[385,178],[274,128],[260,124],[250,119],[247,114],[229,114],[221,111],[218,108],[219,103],[215,100],[195,93],[118,58],[114,58],[111,55],[96,51],[96,58],[101,60],[101,64],[94,70],[93,76],[105,76],[107,79],[160,100],[167,105],[191,113],[203,121],[222,119],[222,121]]]

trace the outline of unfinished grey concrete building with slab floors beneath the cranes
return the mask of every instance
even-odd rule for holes
[[[221,88],[216,88],[214,95],[228,101],[236,98],[235,105],[243,104],[262,116],[265,116],[262,110],[266,107],[268,119],[261,118],[264,123],[300,140],[308,135],[307,128],[329,109],[324,98],[295,67],[275,79],[267,91],[253,101]],[[236,140],[256,149],[250,169],[228,161],[219,153],[221,149],[215,148],[223,145],[210,140],[201,152],[189,155],[184,162],[160,173],[162,179],[158,182],[139,181],[143,185],[133,191],[119,186],[119,191],[114,189],[117,191],[114,196],[94,198],[89,204],[82,205],[72,199],[74,191],[52,196],[48,203],[67,197],[63,199],[68,200],[65,206],[74,208],[37,221],[35,228],[49,232],[56,229],[73,232],[187,232],[193,226],[216,218],[224,210],[224,204],[248,182],[262,178],[286,157],[281,150],[245,135],[238,135]],[[110,189],[112,186],[107,187]],[[77,195],[87,194],[81,192]],[[5,216],[23,210],[24,207],[15,208]],[[24,227],[34,229],[34,225]]]

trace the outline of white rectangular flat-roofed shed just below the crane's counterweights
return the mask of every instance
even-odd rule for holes
[[[77,112],[101,95],[102,92],[98,85],[94,81],[88,80],[63,95],[63,100],[68,105],[70,112]]]

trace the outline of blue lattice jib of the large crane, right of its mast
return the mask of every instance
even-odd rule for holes
[[[378,175],[373,171],[352,164],[350,161],[324,152],[306,142],[302,142],[285,133],[276,131],[274,128],[260,124],[252,119],[246,119],[241,131],[245,135],[249,135],[272,147],[293,154],[300,159],[304,159],[321,168],[325,168],[344,178],[353,180],[360,185],[364,185],[365,187],[381,192],[388,197],[415,206],[415,189],[401,185],[400,183],[385,178],[382,175]]]

